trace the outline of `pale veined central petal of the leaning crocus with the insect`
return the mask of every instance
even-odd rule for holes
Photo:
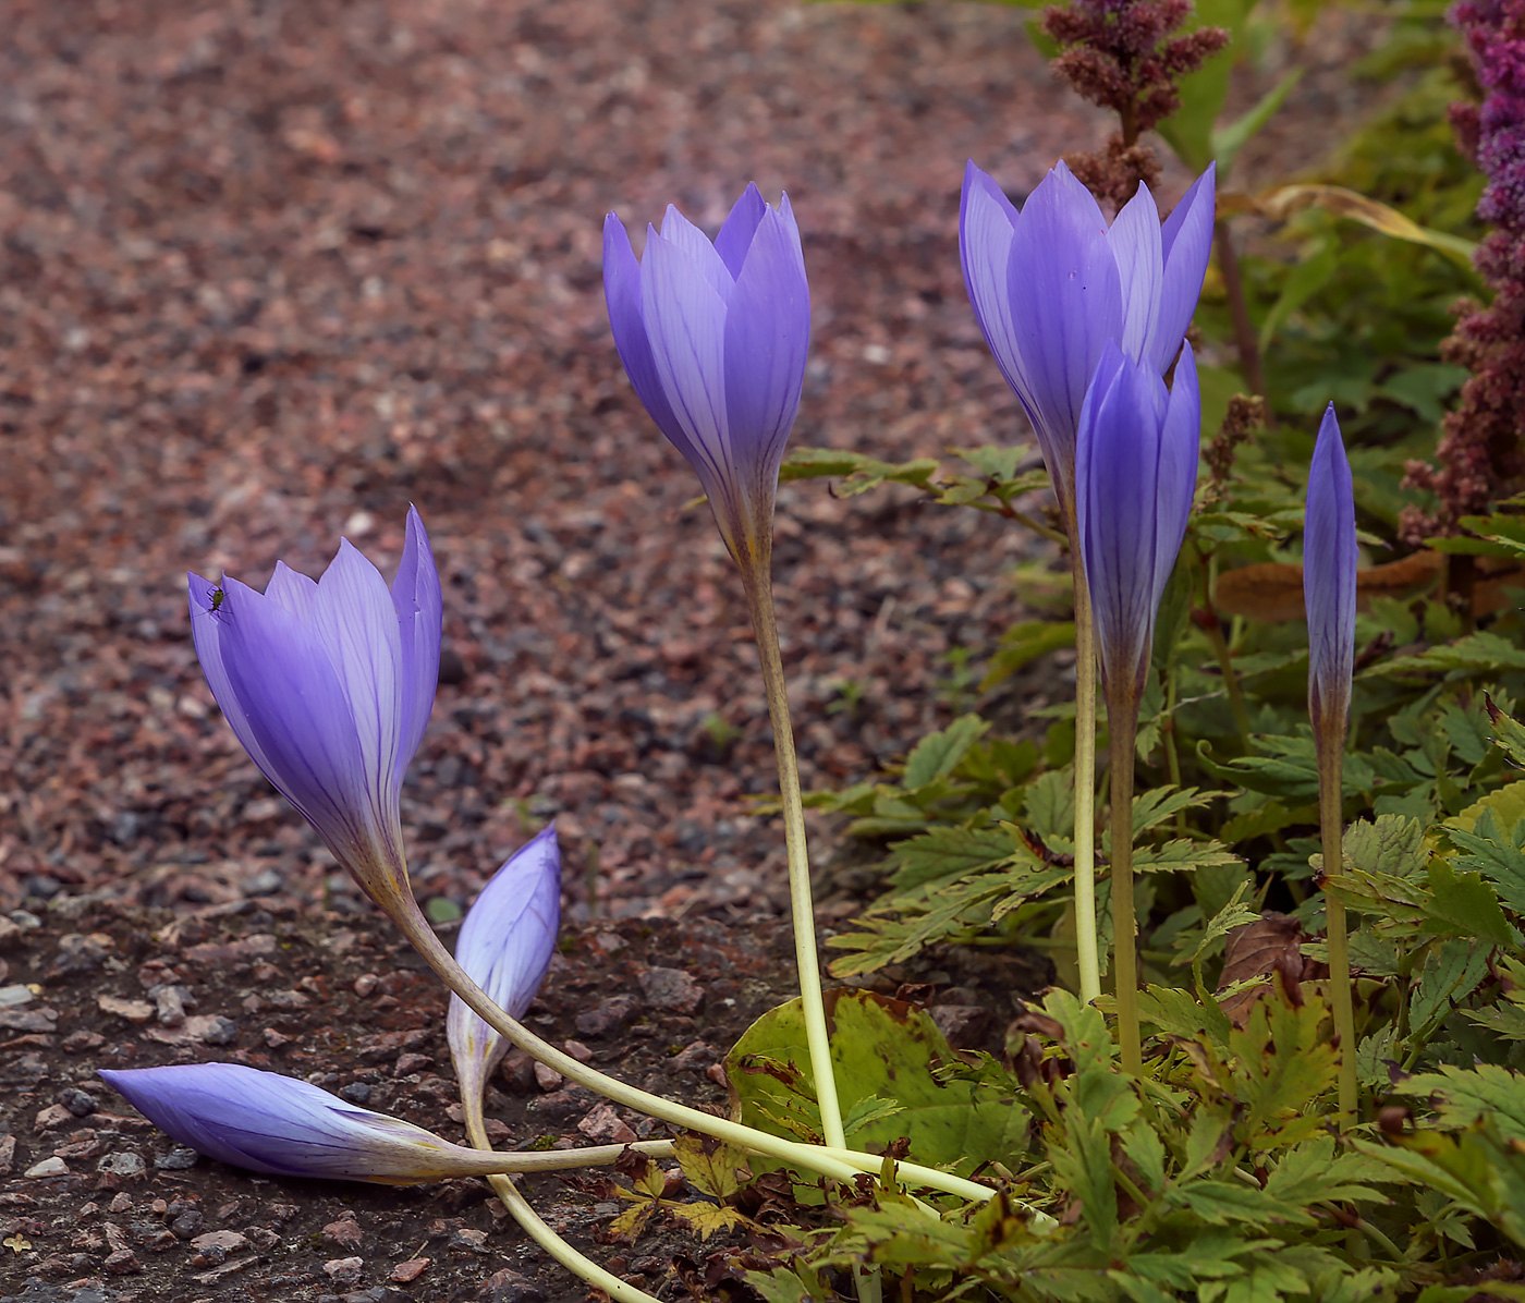
[[[317,581],[313,630],[349,702],[355,740],[377,807],[403,786],[403,647],[396,607],[381,572],[348,540]]]

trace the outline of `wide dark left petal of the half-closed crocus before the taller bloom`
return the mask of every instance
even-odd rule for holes
[[[1107,343],[1086,394],[1075,455],[1086,584],[1107,684],[1148,668],[1159,525],[1159,417],[1147,371]]]

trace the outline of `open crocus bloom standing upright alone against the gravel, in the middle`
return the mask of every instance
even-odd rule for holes
[[[749,185],[714,244],[668,206],[640,261],[608,214],[604,294],[630,383],[698,473],[726,546],[738,561],[766,557],[810,345],[788,195],[775,209]]]

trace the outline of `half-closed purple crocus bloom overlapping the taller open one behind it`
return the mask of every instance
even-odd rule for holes
[[[1168,391],[1153,363],[1106,346],[1081,407],[1075,485],[1109,700],[1113,688],[1133,702],[1144,690],[1154,616],[1191,516],[1200,424],[1191,345]]]

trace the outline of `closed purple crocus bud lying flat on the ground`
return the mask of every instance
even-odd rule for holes
[[[249,1172],[413,1186],[503,1170],[502,1155],[241,1063],[102,1070],[101,1077],[171,1138]]]

